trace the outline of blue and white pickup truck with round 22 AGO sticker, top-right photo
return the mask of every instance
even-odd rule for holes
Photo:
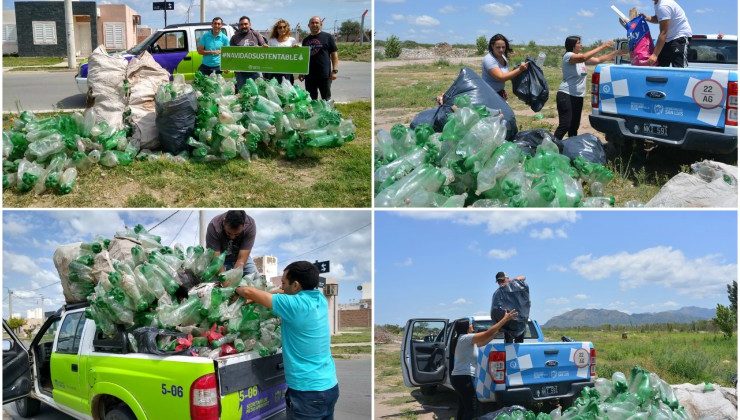
[[[596,66],[589,121],[616,147],[737,154],[737,36],[694,35],[686,68]]]

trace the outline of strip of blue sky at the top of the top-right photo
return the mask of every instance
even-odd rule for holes
[[[696,34],[737,34],[736,0],[678,0]],[[632,7],[654,14],[652,0],[376,0],[378,39],[396,35],[424,43],[467,43],[483,35],[502,33],[515,44],[534,40],[540,45],[562,45],[568,35],[581,35],[584,45],[625,36],[614,4],[625,15]],[[657,37],[658,26],[651,25]]]

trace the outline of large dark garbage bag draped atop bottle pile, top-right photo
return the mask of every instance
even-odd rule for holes
[[[447,92],[444,93],[443,103],[437,108],[434,115],[432,126],[435,132],[442,132],[442,128],[444,128],[447,122],[447,115],[452,112],[452,105],[455,104],[455,98],[460,95],[468,95],[472,105],[485,105],[491,109],[501,110],[501,113],[504,115],[504,121],[506,122],[506,139],[509,140],[514,137],[517,132],[514,111],[511,110],[509,104],[475,70],[469,67],[464,67],[460,70],[457,79],[447,89]],[[422,111],[422,113],[427,111]],[[417,115],[417,117],[419,116]]]

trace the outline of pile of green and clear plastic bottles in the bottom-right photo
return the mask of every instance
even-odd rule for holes
[[[622,372],[615,372],[611,380],[597,379],[594,387],[584,388],[581,396],[565,411],[561,412],[558,408],[549,415],[514,411],[496,417],[498,420],[688,420],[689,418],[671,386],[655,373],[639,366],[632,368],[629,381]]]

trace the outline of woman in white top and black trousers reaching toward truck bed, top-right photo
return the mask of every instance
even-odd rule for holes
[[[591,51],[581,53],[581,37],[569,36],[565,39],[563,55],[563,81],[560,83],[556,102],[558,105],[558,128],[555,137],[562,140],[565,133],[568,137],[578,135],[583,111],[583,98],[586,96],[586,64],[599,64],[613,60],[617,54],[628,54],[627,51],[615,50],[609,54],[596,57],[599,52],[614,46],[614,41],[606,41]]]

